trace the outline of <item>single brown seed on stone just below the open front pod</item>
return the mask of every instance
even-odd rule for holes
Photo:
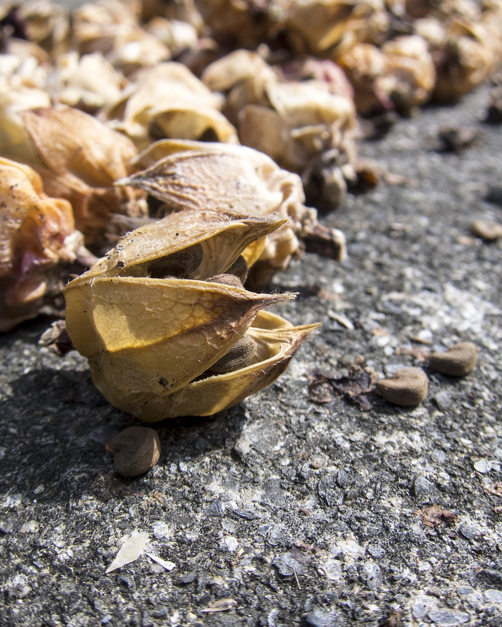
[[[106,448],[113,454],[115,470],[124,477],[148,472],[160,456],[159,436],[149,427],[128,427],[110,440]]]

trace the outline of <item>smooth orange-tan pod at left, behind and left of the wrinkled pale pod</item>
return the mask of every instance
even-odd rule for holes
[[[0,153],[28,163],[50,196],[70,201],[76,228],[88,246],[103,244],[114,213],[143,216],[144,194],[113,182],[131,171],[132,142],[86,113],[70,107],[38,107],[19,114],[19,140]]]

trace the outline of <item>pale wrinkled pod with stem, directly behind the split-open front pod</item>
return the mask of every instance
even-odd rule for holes
[[[323,229],[315,209],[305,206],[300,178],[257,150],[239,145],[163,140],[135,160],[142,172],[118,181],[140,187],[165,203],[165,211],[219,207],[244,208],[250,216],[280,212],[288,224],[266,238],[251,269],[252,285],[263,288],[283,270],[300,246],[298,238],[320,236],[316,252],[338,260],[345,255],[343,233]],[[308,249],[308,246],[307,246]]]

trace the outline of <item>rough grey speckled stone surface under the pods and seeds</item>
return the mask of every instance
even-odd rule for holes
[[[246,403],[157,425],[162,455],[144,477],[114,475],[104,443],[134,420],[81,357],[38,347],[49,320],[1,338],[1,624],[502,624],[502,498],[484,490],[502,479],[502,242],[469,235],[473,219],[502,219],[484,201],[502,177],[502,127],[479,122],[487,98],[427,108],[362,144],[409,180],[323,218],[347,234],[345,263],[305,255],[276,277],[300,292],[280,312],[322,332]],[[446,123],[484,140],[436,152]],[[480,349],[465,379],[420,361],[464,340]],[[358,355],[380,376],[425,367],[426,401],[308,401],[307,371],[341,376]],[[458,519],[423,526],[414,510],[431,505]],[[105,574],[133,530],[175,568],[142,556]],[[218,599],[237,606],[202,613]]]

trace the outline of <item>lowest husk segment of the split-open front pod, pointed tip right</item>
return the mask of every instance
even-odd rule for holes
[[[225,374],[207,373],[170,396],[150,399],[147,408],[137,404],[132,413],[146,422],[176,416],[211,416],[241,403],[271,384],[288,367],[295,353],[318,324],[293,327],[270,312],[258,312],[246,335],[257,345],[253,363]]]

